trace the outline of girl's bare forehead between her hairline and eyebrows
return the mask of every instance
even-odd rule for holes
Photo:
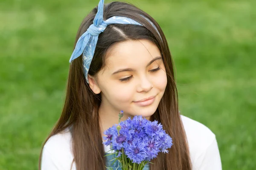
[[[153,58],[161,56],[158,47],[150,40],[127,40],[111,46],[106,54],[109,69],[146,66]]]

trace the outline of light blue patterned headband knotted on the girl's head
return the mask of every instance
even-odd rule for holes
[[[142,24],[138,23],[137,21],[128,18],[128,17],[111,17],[108,20],[103,20],[103,6],[104,6],[104,0],[99,1],[98,5],[98,12],[96,13],[96,16],[93,20],[93,24],[90,25],[90,27],[87,29],[86,32],[84,32],[81,37],[79,37],[76,47],[71,55],[70,63],[71,61],[78,58],[83,53],[83,64],[84,64],[84,77],[86,79],[86,82],[89,84],[88,81],[88,71],[90,68],[90,63],[93,59],[93,55],[95,52],[96,44],[98,41],[99,34],[104,32],[106,27],[110,24],[134,24],[134,25],[140,25]],[[148,20],[148,18],[146,18]],[[151,21],[148,20],[150,23]],[[153,26],[154,24],[151,23]],[[156,27],[154,26],[156,29]],[[157,30],[157,29],[156,29]],[[158,32],[158,31],[157,31]],[[159,32],[158,32],[159,34]]]

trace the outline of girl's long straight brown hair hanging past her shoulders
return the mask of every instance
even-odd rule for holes
[[[96,12],[97,7],[82,21],[76,35],[75,44],[79,37],[93,23]],[[148,18],[156,26],[157,30],[141,15]],[[107,26],[105,31],[99,35],[88,74],[96,76],[105,67],[106,51],[114,43],[125,40],[147,39],[156,44],[163,55],[167,86],[156,112],[151,116],[151,120],[157,120],[163,125],[166,133],[173,138],[173,146],[169,149],[169,153],[163,154],[160,152],[157,158],[151,161],[154,164],[150,164],[150,169],[191,170],[188,144],[178,111],[173,62],[162,29],[147,13],[129,3],[111,2],[105,4],[103,16],[103,20],[113,16],[129,17],[143,24],[143,26],[130,24],[112,24]],[[101,94],[94,94],[85,81],[82,57],[80,56],[70,65],[64,108],[61,117],[47,138],[48,140],[52,135],[61,133],[66,128],[72,126],[72,149],[77,170],[106,169],[105,150],[102,144],[98,119],[100,103]],[[41,169],[41,155],[39,169]]]

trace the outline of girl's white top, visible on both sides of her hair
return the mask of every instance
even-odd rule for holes
[[[221,158],[215,134],[203,124],[181,115],[189,144],[192,170],[221,170]],[[105,146],[105,145],[104,145]],[[49,138],[44,145],[41,170],[70,170],[73,153],[69,131]],[[105,146],[105,152],[110,147]],[[76,170],[73,163],[72,170]]]

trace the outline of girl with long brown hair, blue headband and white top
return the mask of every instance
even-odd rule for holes
[[[147,13],[101,0],[81,23],[70,62],[64,108],[39,169],[116,169],[104,156],[110,148],[102,144],[103,132],[118,124],[123,110],[121,121],[135,115],[157,120],[173,139],[169,153],[159,153],[144,170],[221,170],[215,135],[179,113],[166,37]]]

